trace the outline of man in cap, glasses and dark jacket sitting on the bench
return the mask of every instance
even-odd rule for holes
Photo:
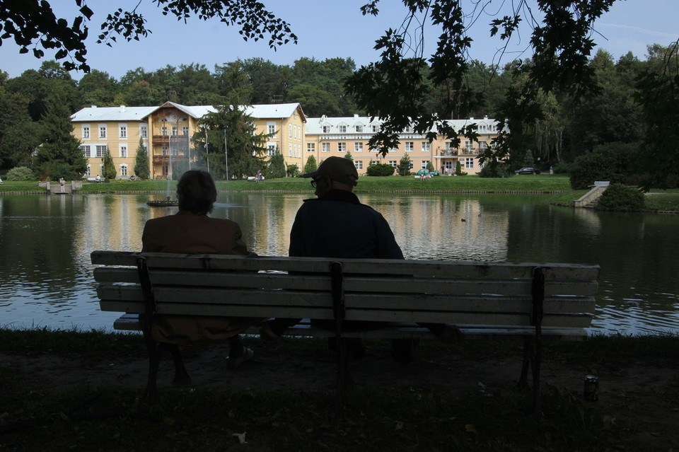
[[[359,175],[348,158],[328,157],[318,170],[303,174],[311,178],[316,199],[305,199],[298,209],[290,231],[289,255],[302,257],[403,259],[394,233],[382,214],[361,204],[354,194]],[[260,333],[273,339],[299,319],[274,319],[262,325]],[[322,326],[322,322],[317,321]],[[365,322],[345,322],[347,328],[369,329],[378,325]],[[330,327],[330,325],[327,325]],[[424,325],[437,335],[445,325]],[[360,340],[349,340],[349,351],[355,357],[363,355]],[[393,340],[394,356],[407,363],[412,358],[412,340]]]

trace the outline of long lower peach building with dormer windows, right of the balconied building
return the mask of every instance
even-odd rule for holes
[[[328,156],[344,156],[349,152],[359,175],[365,174],[366,168],[371,163],[387,163],[396,168],[404,156],[410,157],[411,170],[414,173],[425,169],[431,163],[434,170],[441,171],[441,174],[452,174],[459,161],[465,173],[477,174],[481,170],[479,152],[490,146],[498,133],[497,121],[488,117],[448,120],[455,130],[469,124],[477,124],[479,133],[478,141],[465,140],[463,137],[460,146],[453,146],[452,141],[441,136],[430,143],[425,134],[415,133],[410,127],[400,134],[399,146],[390,149],[389,153],[382,157],[377,151],[368,149],[368,139],[378,132],[381,122],[378,117],[371,120],[371,117],[359,115],[308,118],[305,163],[308,156],[314,156],[316,162],[320,164]]]

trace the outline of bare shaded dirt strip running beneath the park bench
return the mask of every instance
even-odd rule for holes
[[[192,387],[267,388],[333,390],[335,355],[323,344],[300,346],[285,342],[247,341],[255,352],[251,361],[235,370],[226,369],[226,345],[184,347]],[[424,348],[424,347],[422,347]],[[494,392],[516,385],[521,372],[521,349],[508,357],[463,357],[455,352],[441,354],[418,350],[411,364],[397,363],[388,344],[369,343],[366,357],[352,361],[350,372],[356,386],[403,388],[453,388]],[[158,386],[170,386],[173,367],[163,357]],[[640,451],[679,450],[679,362],[656,365],[640,362],[598,360],[583,357],[581,364],[572,359],[550,357],[542,363],[542,385],[581,397],[586,375],[600,378],[598,412],[613,424],[634,425],[626,431]],[[129,388],[145,386],[147,361],[144,354],[127,359],[83,361],[63,359],[50,354],[35,357],[0,354],[0,366],[21,369],[28,376],[47,378],[52,387],[76,383],[115,383]],[[629,443],[629,441],[626,441]],[[627,449],[625,450],[632,450]]]

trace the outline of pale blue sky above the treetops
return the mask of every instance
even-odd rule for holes
[[[277,51],[269,49],[267,40],[245,42],[236,26],[226,26],[216,20],[201,21],[190,18],[185,24],[173,16],[163,16],[161,9],[152,0],[87,0],[94,11],[88,23],[88,64],[92,69],[108,73],[120,79],[129,70],[138,67],[155,71],[170,64],[204,64],[214,71],[214,66],[237,59],[262,58],[274,64],[292,66],[297,59],[308,57],[320,61],[329,58],[352,58],[356,66],[375,62],[379,52],[374,50],[377,40],[388,28],[398,29],[405,18],[405,7],[398,0],[381,0],[380,14],[363,16],[360,7],[367,0],[262,0],[274,14],[291,24],[298,36],[298,44],[287,44]],[[513,40],[507,52],[501,56],[497,50],[503,44],[499,37],[489,37],[487,25],[499,11],[504,16],[511,4],[517,0],[493,0],[482,10],[481,4],[488,0],[463,0],[465,13],[475,11],[475,21],[470,23],[472,37],[470,58],[486,64],[504,64],[516,57],[530,57],[526,50],[529,29],[524,28],[518,39]],[[74,17],[75,0],[50,0],[57,17]],[[534,1],[527,1],[534,7]],[[138,12],[146,20],[146,27],[153,33],[142,37],[139,42],[127,42],[120,37],[112,47],[96,44],[99,25],[117,8],[132,10],[139,4]],[[475,8],[476,6],[476,8]],[[533,8],[537,13],[537,8]],[[593,35],[598,48],[620,58],[632,52],[637,58],[646,58],[646,46],[654,43],[668,45],[679,39],[679,0],[617,0],[608,13],[595,24]],[[472,19],[470,18],[470,21]],[[425,56],[435,50],[436,33],[431,26],[424,28]],[[45,51],[45,59],[53,52]],[[44,59],[36,59],[33,52],[19,54],[13,40],[3,40],[0,46],[0,71],[10,77],[20,76],[27,69],[39,69]],[[79,80],[83,74],[71,71]]]

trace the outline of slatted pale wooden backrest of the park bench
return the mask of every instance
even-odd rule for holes
[[[332,319],[330,266],[340,262],[346,320],[533,325],[537,287],[542,325],[565,328],[590,325],[599,271],[597,265],[117,251],[91,258],[105,265],[94,273],[102,311],[144,313],[137,270],[144,262],[158,314]],[[544,289],[535,284],[536,268]],[[336,275],[335,297],[337,290]]]

